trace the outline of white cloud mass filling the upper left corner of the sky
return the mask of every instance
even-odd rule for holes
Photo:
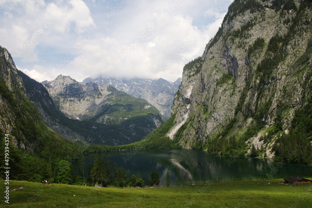
[[[0,5],[5,17],[0,25],[0,44],[23,62],[41,61],[38,46],[62,48],[66,45],[64,43],[72,41],[73,35],[95,27],[90,10],[82,0],[47,5],[43,0],[16,0],[4,1]],[[74,34],[71,33],[72,23]]]

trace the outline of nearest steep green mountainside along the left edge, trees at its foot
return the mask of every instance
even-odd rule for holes
[[[0,167],[10,167],[12,180],[51,178],[57,162],[66,158],[75,160],[82,150],[46,125],[35,104],[28,99],[10,53],[1,46],[0,74],[0,148],[6,150],[0,154],[7,157]],[[4,172],[0,177],[5,177]]]

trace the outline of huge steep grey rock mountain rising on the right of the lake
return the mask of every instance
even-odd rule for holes
[[[174,145],[312,164],[311,17],[307,0],[235,0],[184,66],[166,133]]]

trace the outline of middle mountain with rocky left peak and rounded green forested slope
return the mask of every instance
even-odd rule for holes
[[[109,85],[92,82],[81,85],[70,76],[62,75],[42,84],[55,105],[70,118],[70,121],[58,119],[61,123],[57,123],[75,130],[72,134],[84,137],[89,144],[133,143],[163,123],[159,111],[146,100],[134,98]],[[46,122],[48,120],[51,119]],[[64,132],[62,126],[55,126],[60,129],[60,134]]]

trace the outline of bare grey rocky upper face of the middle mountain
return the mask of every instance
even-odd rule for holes
[[[115,105],[117,103],[129,105],[126,106],[123,111],[132,111],[134,109],[148,111],[145,113],[155,112],[157,110],[150,106],[144,99],[135,99],[134,97],[127,95],[123,92],[118,92],[114,87],[110,85],[98,85],[94,82],[81,85],[70,76],[59,75],[53,81],[44,81],[42,84],[49,91],[50,96],[54,102],[60,106],[60,109],[67,117],[72,119],[90,119],[95,115],[101,113],[105,106]],[[123,98],[121,96],[124,96]],[[122,101],[125,101],[123,103]],[[135,102],[137,106],[133,106],[130,103]],[[130,108],[131,105],[131,108]],[[115,112],[117,112],[114,109]],[[150,111],[150,112],[149,112]],[[109,112],[108,112],[109,113]],[[122,112],[117,112],[122,113]],[[106,120],[112,120],[115,118],[105,117],[103,123],[108,124]],[[125,118],[127,119],[127,118]],[[119,118],[119,120],[124,120]],[[155,122],[156,126],[163,123],[163,120]]]

